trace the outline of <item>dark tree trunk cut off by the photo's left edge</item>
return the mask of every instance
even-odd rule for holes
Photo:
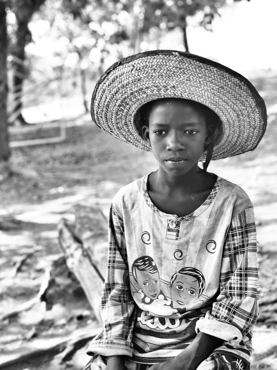
[[[7,132],[7,35],[6,35],[6,11],[5,3],[0,2],[0,166],[5,165],[10,152],[8,147]],[[1,176],[1,173],[0,173]]]

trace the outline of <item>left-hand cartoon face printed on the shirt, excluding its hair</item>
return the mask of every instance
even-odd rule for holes
[[[150,273],[136,269],[136,279],[142,292],[151,299],[156,299],[160,292],[158,271]]]

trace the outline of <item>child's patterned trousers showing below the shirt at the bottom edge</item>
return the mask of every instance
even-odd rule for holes
[[[125,360],[126,370],[147,370],[150,366]],[[96,356],[87,363],[83,370],[106,370],[106,357]],[[239,358],[215,353],[200,363],[197,370],[249,370],[249,366]]]

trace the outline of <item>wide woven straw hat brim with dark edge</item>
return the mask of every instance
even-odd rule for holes
[[[91,117],[115,138],[151,151],[134,117],[143,104],[160,98],[193,100],[219,116],[222,127],[211,159],[253,150],[266,129],[263,99],[247,79],[216,62],[172,50],[140,53],[114,63],[95,86]]]

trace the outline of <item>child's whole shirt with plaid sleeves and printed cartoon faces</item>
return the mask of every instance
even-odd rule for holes
[[[200,330],[224,340],[213,353],[249,363],[258,269],[248,196],[217,177],[204,203],[178,217],[154,206],[147,178],[112,200],[103,330],[87,353],[165,361]]]

